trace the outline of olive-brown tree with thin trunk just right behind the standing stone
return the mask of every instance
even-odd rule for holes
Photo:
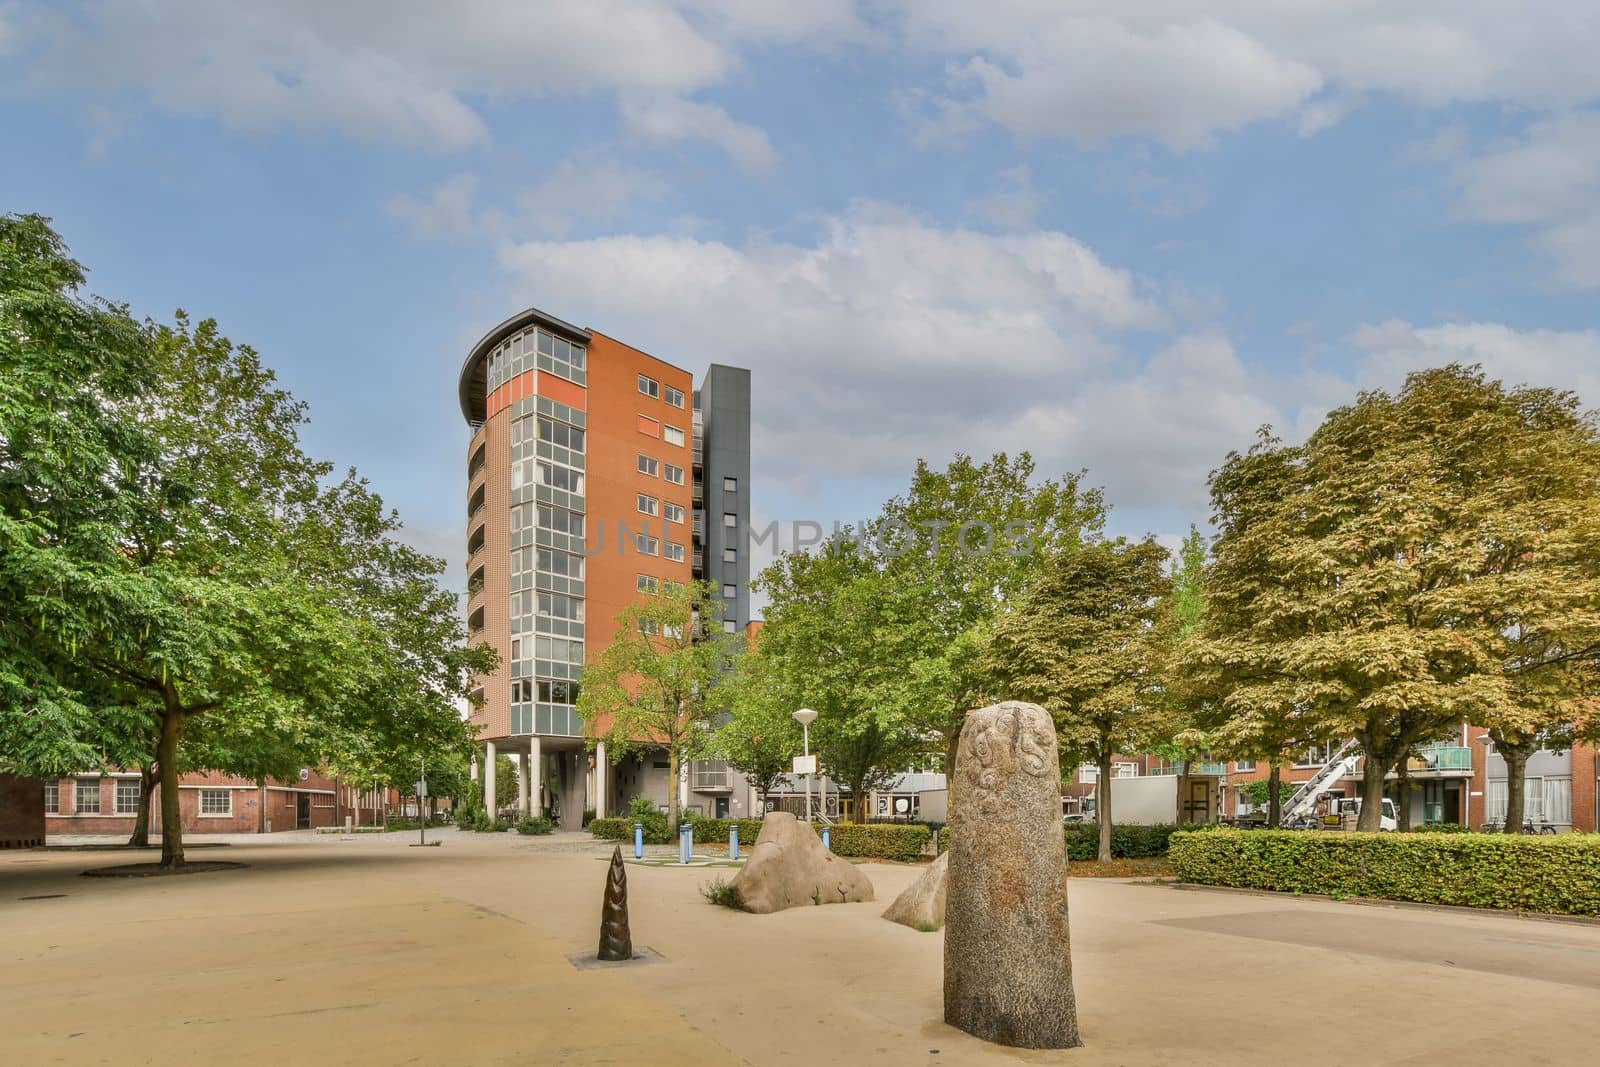
[[[1154,539],[1099,541],[1051,560],[994,627],[984,667],[1000,694],[1050,710],[1067,761],[1099,768],[1099,861],[1110,861],[1110,768],[1171,736],[1162,614],[1171,590]]]

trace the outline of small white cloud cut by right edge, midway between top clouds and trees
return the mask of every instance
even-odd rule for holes
[[[1534,122],[1522,138],[1458,160],[1461,216],[1528,226],[1555,278],[1600,286],[1600,112]]]

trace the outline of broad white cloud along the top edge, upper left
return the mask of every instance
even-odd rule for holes
[[[16,50],[43,90],[440,150],[488,139],[472,96],[691,93],[738,62],[659,0],[150,0],[29,16]]]

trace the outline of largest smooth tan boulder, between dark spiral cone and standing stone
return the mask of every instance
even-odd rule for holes
[[[787,811],[762,819],[750,859],[733,880],[747,912],[853,904],[872,899],[872,883],[854,864],[822,848],[822,838]]]

